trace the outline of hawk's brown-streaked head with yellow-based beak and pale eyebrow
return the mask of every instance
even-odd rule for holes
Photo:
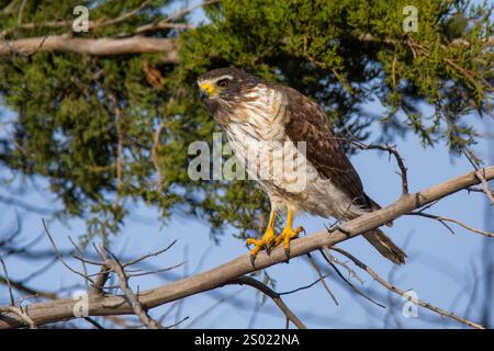
[[[198,78],[201,100],[218,121],[245,102],[245,94],[259,82],[259,78],[233,67],[210,70]]]

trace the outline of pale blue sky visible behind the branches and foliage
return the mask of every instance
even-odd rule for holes
[[[201,19],[201,12],[195,19]],[[370,103],[366,106],[374,112],[381,110],[379,104]],[[8,117],[3,115],[2,118]],[[481,121],[474,116],[479,131],[484,135],[494,132],[492,121]],[[372,129],[370,140],[379,138],[379,128]],[[471,171],[472,167],[464,158],[451,157],[447,147],[439,144],[435,148],[424,149],[417,137],[408,134],[404,139],[396,140],[397,148],[405,159],[408,168],[411,191],[418,191],[447,179]],[[485,139],[475,147],[478,156],[494,162],[493,150],[489,150]],[[351,158],[352,163],[361,176],[366,192],[381,205],[386,205],[396,200],[401,193],[401,180],[395,173],[397,167],[386,155],[377,151],[362,151]],[[2,173],[5,173],[2,170]],[[43,188],[44,181],[40,181]],[[1,191],[1,195],[7,195]],[[46,191],[30,191],[22,197],[23,201],[38,207],[60,207],[61,204],[54,201]],[[479,193],[459,192],[452,196],[441,200],[435,205],[430,213],[460,219],[475,228],[486,228],[486,218],[493,217],[493,208],[486,205],[485,196]],[[4,210],[1,214],[3,229],[13,227],[14,208]],[[180,276],[204,271],[240,254],[246,253],[244,244],[233,238],[235,230],[226,228],[225,235],[221,237],[216,246],[210,238],[209,226],[197,219],[175,216],[171,222],[161,226],[158,212],[145,205],[133,208],[130,220],[126,222],[122,233],[114,237],[112,244],[113,252],[125,257],[137,257],[149,251],[162,248],[177,239],[177,245],[168,252],[149,262],[155,267],[169,267],[182,261],[187,263],[171,272],[143,276],[132,280],[135,288],[145,290],[177,280]],[[23,239],[29,242],[42,233],[41,216],[37,214],[24,214]],[[324,229],[326,219],[303,216],[296,219],[296,225],[303,225],[306,231],[314,233]],[[360,260],[371,265],[382,278],[392,281],[402,290],[413,290],[417,297],[445,309],[469,316],[476,320],[479,301],[471,301],[474,282],[482,282],[480,270],[482,245],[485,240],[482,236],[469,233],[463,228],[456,227],[452,235],[439,223],[419,218],[402,217],[395,220],[392,228],[385,228],[393,240],[398,244],[408,254],[407,263],[403,267],[393,267],[383,259],[363,238],[355,238],[343,242],[341,248],[350,251]],[[491,227],[492,229],[492,227]],[[59,248],[70,248],[67,236],[77,238],[85,233],[85,224],[81,220],[69,220],[67,224],[54,222],[50,233],[59,245]],[[491,247],[493,244],[491,242]],[[36,249],[49,249],[45,238],[35,244]],[[207,253],[205,253],[207,252]],[[326,269],[323,261],[321,267]],[[27,276],[33,269],[42,267],[42,260],[35,267],[8,257],[5,259],[12,278],[21,279]],[[46,262],[46,261],[44,261]],[[70,262],[77,267],[76,261]],[[317,280],[316,272],[311,268],[305,258],[295,258],[289,265],[279,264],[269,268],[268,273],[277,281],[277,291],[287,292],[307,285]],[[295,294],[283,296],[285,303],[312,328],[428,328],[428,327],[462,327],[456,321],[431,314],[424,308],[418,309],[418,317],[406,318],[402,314],[405,301],[400,296],[389,296],[389,292],[381,287],[364,272],[356,269],[359,276],[364,280],[360,285],[362,290],[372,288],[379,294],[372,295],[377,301],[388,306],[386,309],[378,307],[355,293],[348,286],[341,284],[333,271],[327,270],[330,275],[326,279],[327,284],[336,295],[339,305],[336,306],[330,299],[322,284],[300,291]],[[261,279],[261,278],[260,278]],[[30,285],[57,291],[61,286],[80,284],[80,279],[70,273],[60,264],[46,270],[34,279]],[[61,294],[72,294],[76,287]],[[183,299],[182,303],[172,303],[153,310],[153,316],[159,317],[167,313],[164,324],[171,325],[182,317],[189,319],[180,325],[187,327],[205,328],[283,328],[284,317],[269,299],[261,304],[261,296],[246,286],[225,286],[214,292],[204,293]],[[0,286],[0,305],[8,303],[7,290]],[[390,310],[393,314],[390,314]],[[494,312],[493,312],[494,313]],[[81,326],[86,326],[83,322]]]

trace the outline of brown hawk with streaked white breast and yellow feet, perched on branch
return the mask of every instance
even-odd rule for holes
[[[254,245],[252,262],[260,250],[269,253],[281,242],[290,258],[290,240],[303,231],[302,227],[293,228],[297,213],[349,220],[381,208],[363,192],[340,139],[316,102],[294,89],[233,67],[211,70],[198,78],[198,84],[201,100],[226,132],[235,156],[271,202],[266,233],[261,239],[247,239],[247,245]],[[305,155],[297,147],[301,141]],[[251,154],[266,148],[269,157],[246,161]],[[269,174],[283,169],[284,159],[280,155],[304,163],[304,186],[292,186],[293,180],[285,177],[259,177],[259,169],[269,169]],[[277,235],[276,217],[284,212],[287,223]],[[405,262],[406,254],[379,228],[364,233],[363,237],[392,262]]]

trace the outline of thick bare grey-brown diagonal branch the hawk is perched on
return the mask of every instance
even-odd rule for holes
[[[493,180],[494,166],[485,168],[482,174],[484,176],[485,181]],[[434,201],[479,183],[480,180],[476,177],[475,171],[473,171],[420,192],[403,195],[396,202],[382,210],[347,222],[343,231],[334,230],[328,233],[324,230],[294,240],[291,247],[291,256],[297,257],[324,247],[334,246],[351,237],[358,236],[361,233],[382,226]],[[285,260],[287,258],[282,247],[272,250],[270,256],[266,252],[260,252],[256,259],[255,267],[252,267],[249,256],[244,254],[203,273],[144,291],[139,293],[139,303],[146,309],[153,308],[172,301],[220,287],[242,275],[284,262]],[[76,303],[76,299],[70,298],[56,299],[27,305],[26,310],[33,322],[40,326],[47,322],[76,318],[72,312]],[[128,305],[124,296],[96,296],[89,299],[90,316],[124,315],[133,313],[132,306]],[[15,328],[25,325],[25,320],[14,313],[5,312],[0,315],[0,328]]]

